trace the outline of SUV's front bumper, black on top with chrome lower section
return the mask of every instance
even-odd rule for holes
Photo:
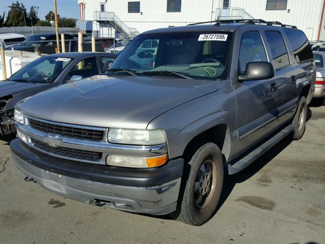
[[[176,210],[183,159],[161,168],[128,169],[79,163],[41,153],[15,139],[14,162],[26,176],[60,196],[84,203],[152,215]]]

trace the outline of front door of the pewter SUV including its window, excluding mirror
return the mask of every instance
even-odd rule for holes
[[[239,73],[245,72],[247,63],[258,61],[269,61],[261,34],[245,32],[240,42]],[[277,84],[275,78],[237,81],[234,89],[238,128],[235,154],[238,154],[273,130],[277,116]]]

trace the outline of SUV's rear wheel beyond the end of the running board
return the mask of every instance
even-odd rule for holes
[[[301,97],[298,108],[291,125],[294,127],[294,140],[299,140],[303,137],[306,129],[307,121],[307,100]]]

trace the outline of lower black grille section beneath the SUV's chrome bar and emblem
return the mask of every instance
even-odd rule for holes
[[[44,142],[40,142],[38,140],[30,139],[31,143],[36,147],[47,153],[54,154],[57,156],[86,160],[86,161],[94,161],[99,162],[102,159],[102,153],[98,153],[96,151],[85,151],[79,149],[72,149],[67,147],[51,147]]]

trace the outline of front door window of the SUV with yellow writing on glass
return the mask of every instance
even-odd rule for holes
[[[258,32],[246,32],[240,43],[239,72],[245,72],[247,63],[258,61],[267,61],[261,36]]]

